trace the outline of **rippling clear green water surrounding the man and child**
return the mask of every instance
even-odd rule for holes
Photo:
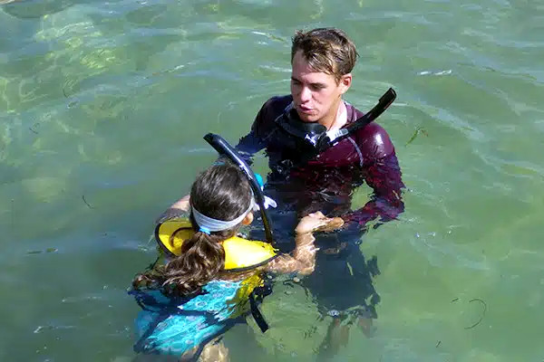
[[[351,329],[335,360],[543,360],[540,0],[1,5],[0,360],[130,360],[125,289],[154,218],[215,158],[206,132],[236,143],[288,92],[294,31],[324,25],[361,54],[346,100],[397,90],[380,122],[409,188],[361,245],[382,271],[375,335]],[[313,360],[330,320],[302,289],[263,311],[266,335],[228,333],[232,360]]]

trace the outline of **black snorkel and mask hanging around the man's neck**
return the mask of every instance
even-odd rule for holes
[[[372,110],[356,119],[345,129],[338,129],[333,137],[327,135],[325,126],[318,123],[307,123],[298,119],[296,110],[287,110],[283,116],[276,119],[277,125],[291,136],[299,139],[299,147],[304,153],[302,161],[316,157],[325,149],[335,146],[342,139],[349,137],[355,131],[364,128],[374,119],[377,119],[396,99],[393,88],[387,90]]]

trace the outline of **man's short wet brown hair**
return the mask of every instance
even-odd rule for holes
[[[336,82],[354,69],[359,55],[355,44],[336,28],[297,31],[291,45],[291,63],[298,51],[302,51],[311,69],[333,75]]]

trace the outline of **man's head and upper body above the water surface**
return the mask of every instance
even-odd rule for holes
[[[305,149],[280,127],[280,119],[296,118],[331,131],[344,129],[363,116],[363,112],[342,99],[351,86],[356,58],[355,44],[341,30],[321,28],[297,32],[291,48],[291,94],[265,102],[251,131],[240,139],[237,149],[251,157],[266,148],[272,171],[268,186],[270,182],[281,183],[287,178],[302,180],[306,194],[316,187],[321,195],[315,196],[324,198],[311,200],[314,202],[326,201],[324,189],[325,194],[327,191],[335,195],[351,194],[355,186],[366,181],[374,190],[371,200],[353,213],[342,210],[346,221],[364,226],[378,216],[381,221],[389,221],[403,212],[401,170],[385,129],[372,122],[301,163]],[[338,175],[339,172],[342,175]],[[345,179],[339,180],[341,176]],[[296,204],[300,204],[300,198],[296,199]],[[345,201],[349,208],[349,200]]]

